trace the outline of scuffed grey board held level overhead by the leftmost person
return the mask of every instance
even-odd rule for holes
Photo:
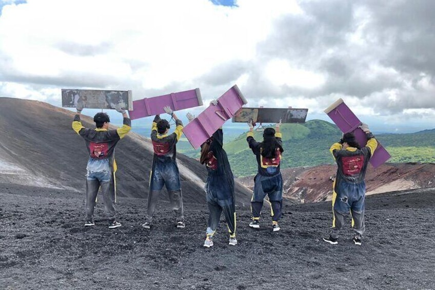
[[[75,108],[77,102],[89,109],[114,109],[117,104],[133,109],[131,91],[62,89],[62,107]]]

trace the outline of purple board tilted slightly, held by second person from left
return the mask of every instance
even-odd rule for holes
[[[129,111],[130,119],[135,120],[152,115],[163,114],[163,107],[169,106],[172,110],[183,110],[202,106],[200,89],[170,93],[133,101],[133,110]]]

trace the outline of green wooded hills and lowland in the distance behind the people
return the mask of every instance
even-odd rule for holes
[[[329,147],[340,140],[342,132],[332,123],[310,120],[304,124],[283,124],[282,168],[332,164]],[[257,141],[263,140],[262,131],[254,131]],[[375,134],[375,137],[391,154],[388,162],[435,162],[435,129],[407,134]],[[177,148],[183,154],[199,158],[199,150],[193,150],[189,142],[179,142]],[[231,169],[236,177],[255,175],[255,156],[248,148],[246,132],[224,144]]]

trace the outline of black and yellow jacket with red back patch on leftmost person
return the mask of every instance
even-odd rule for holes
[[[72,122],[73,130],[85,139],[86,148],[88,149],[89,158],[109,159],[109,164],[116,171],[116,162],[114,159],[115,145],[118,141],[126,136],[131,130],[131,120],[124,118],[121,128],[107,130],[103,128],[85,128],[80,121],[80,115],[74,116]]]

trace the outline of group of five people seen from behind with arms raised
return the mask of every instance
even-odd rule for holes
[[[217,105],[213,100],[210,105]],[[98,189],[101,188],[105,212],[109,220],[109,228],[120,227],[115,220],[115,172],[116,162],[114,148],[118,141],[131,130],[131,120],[124,108],[116,106],[116,111],[123,114],[123,126],[109,129],[110,118],[106,113],[99,112],[94,116],[95,129],[85,128],[80,120],[83,104],[76,106],[72,128],[85,139],[89,152],[87,164],[85,226],[93,226],[93,211],[96,204]],[[169,195],[172,210],[176,216],[176,227],[184,228],[184,208],[180,182],[180,173],[176,163],[176,143],[183,133],[183,122],[169,106],[164,107],[167,114],[175,121],[175,130],[169,133],[170,124],[156,115],[151,128],[153,146],[153,161],[150,173],[146,220],[142,224],[145,229],[151,229],[152,217],[163,186]],[[193,115],[188,113],[190,121]],[[266,196],[270,202],[272,216],[272,231],[279,231],[279,219],[283,204],[283,179],[280,171],[282,154],[281,121],[275,128],[266,128],[263,140],[254,139],[252,122],[248,122],[249,132],[247,143],[256,157],[258,172],[254,177],[254,188],[251,199],[252,220],[249,226],[260,228],[260,216]],[[352,216],[352,228],[355,231],[353,241],[361,245],[364,226],[365,172],[367,164],[377,147],[377,141],[366,124],[360,126],[366,133],[367,145],[361,147],[353,133],[346,133],[338,143],[334,143],[330,151],[338,165],[337,179],[333,185],[333,221],[325,242],[337,244],[339,231],[344,225],[346,215]],[[222,212],[229,232],[229,245],[236,245],[236,213],[234,176],[223,149],[223,130],[217,129],[212,136],[201,145],[201,164],[204,164],[208,176],[205,184],[206,200],[209,208],[208,226],[204,247],[213,246],[213,235],[219,225]]]

